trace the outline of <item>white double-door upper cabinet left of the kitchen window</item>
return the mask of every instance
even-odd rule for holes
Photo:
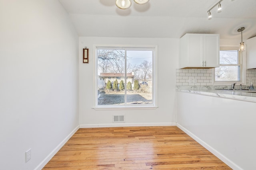
[[[191,34],[180,38],[180,68],[220,66],[220,35]]]

